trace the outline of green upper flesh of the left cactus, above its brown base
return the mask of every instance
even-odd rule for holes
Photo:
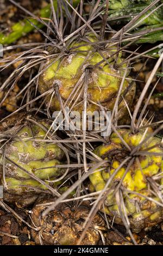
[[[44,123],[40,124],[44,125]],[[20,185],[45,189],[45,186],[31,179],[23,169],[42,180],[51,180],[64,173],[64,169],[55,167],[61,164],[64,152],[57,144],[43,142],[45,135],[46,131],[39,125],[26,125],[7,145],[5,156],[12,161],[5,160],[5,182],[8,188],[15,192],[20,191]],[[37,139],[42,141],[37,142]],[[3,157],[1,157],[1,165],[3,165],[2,159]]]

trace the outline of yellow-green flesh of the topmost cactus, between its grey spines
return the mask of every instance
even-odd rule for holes
[[[87,66],[90,68],[90,74],[88,79],[88,89],[87,89],[87,98],[90,100],[89,105],[87,106],[87,111],[94,112],[100,110],[98,104],[102,105],[110,110],[114,107],[116,100],[116,95],[120,87],[124,70],[126,64],[123,64],[120,68],[114,68],[115,56],[112,56],[117,51],[116,47],[108,47],[106,50],[96,51],[93,45],[91,44],[96,42],[97,39],[92,35],[85,36],[86,41],[74,41],[70,44],[70,53],[68,56],[64,56],[58,59],[57,57],[48,60],[48,62],[43,66],[45,71],[40,76],[39,80],[39,90],[40,93],[45,93],[47,90],[54,86],[55,82],[58,84],[59,93],[61,98],[65,101],[70,96],[74,86],[76,86],[79,78],[84,75],[85,69]],[[89,44],[90,41],[90,44]],[[86,45],[87,44],[87,45]],[[84,45],[84,46],[82,46]],[[79,46],[79,47],[78,47]],[[97,65],[103,60],[103,57],[107,58],[108,63],[102,62],[101,65]],[[112,57],[110,57],[112,56]],[[121,53],[118,54],[116,60],[117,64],[121,64],[123,59],[121,58]],[[47,67],[47,69],[46,69]],[[127,74],[128,76],[129,74]],[[129,86],[129,80],[125,80],[123,83],[122,92]],[[77,95],[80,93],[77,93]],[[130,95],[126,95],[126,101],[130,105],[135,95],[135,86],[130,92]],[[82,96],[81,96],[82,97]],[[81,97],[79,102],[81,102]],[[60,110],[60,103],[57,95],[49,95],[47,103],[51,101],[52,110]],[[83,110],[83,104],[77,102],[77,106],[74,107],[74,110],[81,112]],[[95,102],[95,103],[93,103]],[[127,112],[126,105],[122,101],[120,108],[123,108],[124,112]],[[122,115],[123,115],[122,114]]]

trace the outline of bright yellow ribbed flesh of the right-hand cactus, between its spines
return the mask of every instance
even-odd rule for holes
[[[131,149],[139,146],[143,139],[149,136],[147,133],[144,136],[143,132],[136,134],[131,133],[130,130],[121,129],[118,130],[118,133],[122,136],[124,141],[130,146]],[[147,150],[148,153],[163,153],[163,148],[156,144],[160,144],[161,139],[156,137],[150,137],[147,141],[141,145],[141,150]],[[154,145],[156,147],[152,148]],[[118,138],[116,133],[112,133],[110,136],[109,144],[104,144],[97,147],[94,151],[96,155],[102,159],[109,161],[108,167],[105,170],[96,170],[95,173],[90,175],[91,181],[91,191],[93,188],[95,191],[103,190],[106,182],[111,175],[114,175],[115,170],[120,166],[121,162],[125,157],[129,156],[129,151],[124,147],[121,139]],[[147,178],[153,177],[156,174],[159,174],[163,170],[163,161],[162,156],[156,156],[152,154],[140,155],[139,163],[135,160],[131,165],[130,169],[126,173],[126,166],[121,167],[118,172],[112,178],[110,187],[115,182],[122,182],[122,187],[127,188],[129,191],[136,191],[139,194],[134,193],[124,193],[123,199],[126,206],[127,214],[130,216],[131,224],[134,225],[135,231],[140,231],[141,227],[146,227],[152,223],[159,222],[161,216],[163,215],[163,210],[159,206],[147,200],[145,197],[151,197],[155,201],[160,201],[159,198],[154,196],[150,191],[148,191],[148,181]],[[126,173],[126,175],[124,175]],[[123,180],[122,180],[123,178]],[[163,179],[159,180],[159,185],[163,184]],[[151,188],[152,189],[152,188]],[[110,193],[105,200],[105,207],[107,209],[106,213],[110,216],[116,215],[120,218],[120,212],[118,205],[116,204],[116,198],[114,193]],[[146,222],[142,221],[141,226],[137,225],[137,221],[144,220],[147,218]],[[119,220],[120,221],[120,220]],[[136,229],[137,225],[137,229]]]

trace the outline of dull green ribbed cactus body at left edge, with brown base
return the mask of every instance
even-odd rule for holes
[[[59,166],[64,151],[56,143],[43,141],[49,124],[45,120],[32,123],[23,120],[20,125],[2,132],[8,141],[1,143],[1,184],[4,200],[20,205],[33,203],[40,192],[47,191],[49,182],[64,174]],[[32,176],[34,175],[35,178]],[[45,182],[41,184],[38,179]],[[58,183],[52,183],[53,187]]]

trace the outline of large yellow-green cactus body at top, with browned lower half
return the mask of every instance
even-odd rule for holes
[[[62,101],[74,111],[82,112],[84,88],[87,86],[87,111],[100,111],[101,106],[111,111],[126,69],[126,64],[121,65],[122,53],[116,54],[115,46],[104,46],[90,34],[71,44],[69,42],[67,48],[68,53],[56,53],[55,58],[49,59],[42,66],[43,73],[39,80],[40,93],[45,93],[51,88],[55,91],[55,86],[58,86],[61,97],[60,100],[57,93],[53,96],[50,94],[47,98],[47,106],[52,111],[59,111]],[[130,82],[128,77],[124,80],[121,95],[129,87]],[[129,106],[133,102],[134,95],[135,85],[125,96]],[[120,103],[120,108],[121,118],[127,113],[124,101]]]

